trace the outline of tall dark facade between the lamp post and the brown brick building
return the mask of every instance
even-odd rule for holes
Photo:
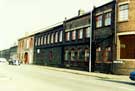
[[[94,8],[92,23],[94,71],[111,73],[115,59],[115,1]]]

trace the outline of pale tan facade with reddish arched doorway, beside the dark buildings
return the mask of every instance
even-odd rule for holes
[[[33,63],[34,36],[29,35],[18,40],[18,59],[24,64]]]

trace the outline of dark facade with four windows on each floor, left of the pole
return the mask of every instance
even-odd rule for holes
[[[90,56],[90,13],[64,21],[64,65],[88,70]]]

